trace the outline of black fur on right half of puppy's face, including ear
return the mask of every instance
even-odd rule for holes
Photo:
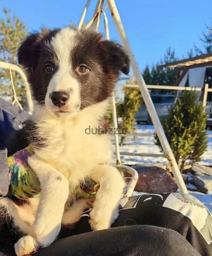
[[[118,43],[102,41],[102,36],[93,31],[77,34],[77,45],[72,50],[73,71],[80,64],[90,72],[77,75],[81,83],[81,109],[107,99],[117,82],[120,71],[129,73],[129,58]]]

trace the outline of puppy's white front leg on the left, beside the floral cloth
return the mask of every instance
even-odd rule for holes
[[[40,246],[48,246],[56,239],[68,198],[68,180],[50,164],[36,155],[29,157],[29,164],[41,184],[40,203],[34,221],[34,233]]]

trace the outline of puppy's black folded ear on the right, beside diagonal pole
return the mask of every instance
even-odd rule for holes
[[[100,41],[99,45],[102,52],[105,52],[103,58],[109,61],[108,65],[127,75],[130,68],[130,60],[122,46],[109,40]]]

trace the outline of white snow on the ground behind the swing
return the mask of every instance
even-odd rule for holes
[[[120,146],[120,152],[162,154],[160,148],[154,143],[153,134],[155,129],[153,126],[137,125],[134,133],[152,135],[127,137],[125,144]],[[208,131],[208,134],[212,135],[212,131]],[[121,156],[121,161],[123,164],[167,164],[167,160],[164,157]],[[202,160],[199,163],[212,166],[212,138],[208,138],[207,151],[202,155]],[[199,192],[189,193],[202,201],[212,212],[212,191],[207,195]]]

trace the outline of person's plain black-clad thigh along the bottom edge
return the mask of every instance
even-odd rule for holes
[[[15,255],[13,247],[2,248],[0,255]],[[179,233],[149,225],[115,227],[69,236],[40,249],[34,255],[200,256]]]

